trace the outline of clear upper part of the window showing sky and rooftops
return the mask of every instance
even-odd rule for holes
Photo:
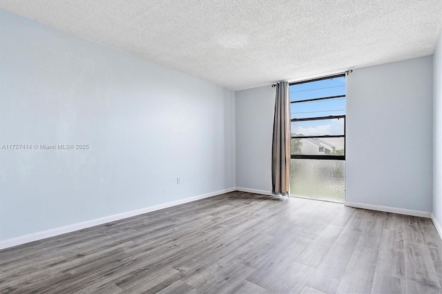
[[[344,160],[345,75],[290,84],[290,99],[291,158]]]

